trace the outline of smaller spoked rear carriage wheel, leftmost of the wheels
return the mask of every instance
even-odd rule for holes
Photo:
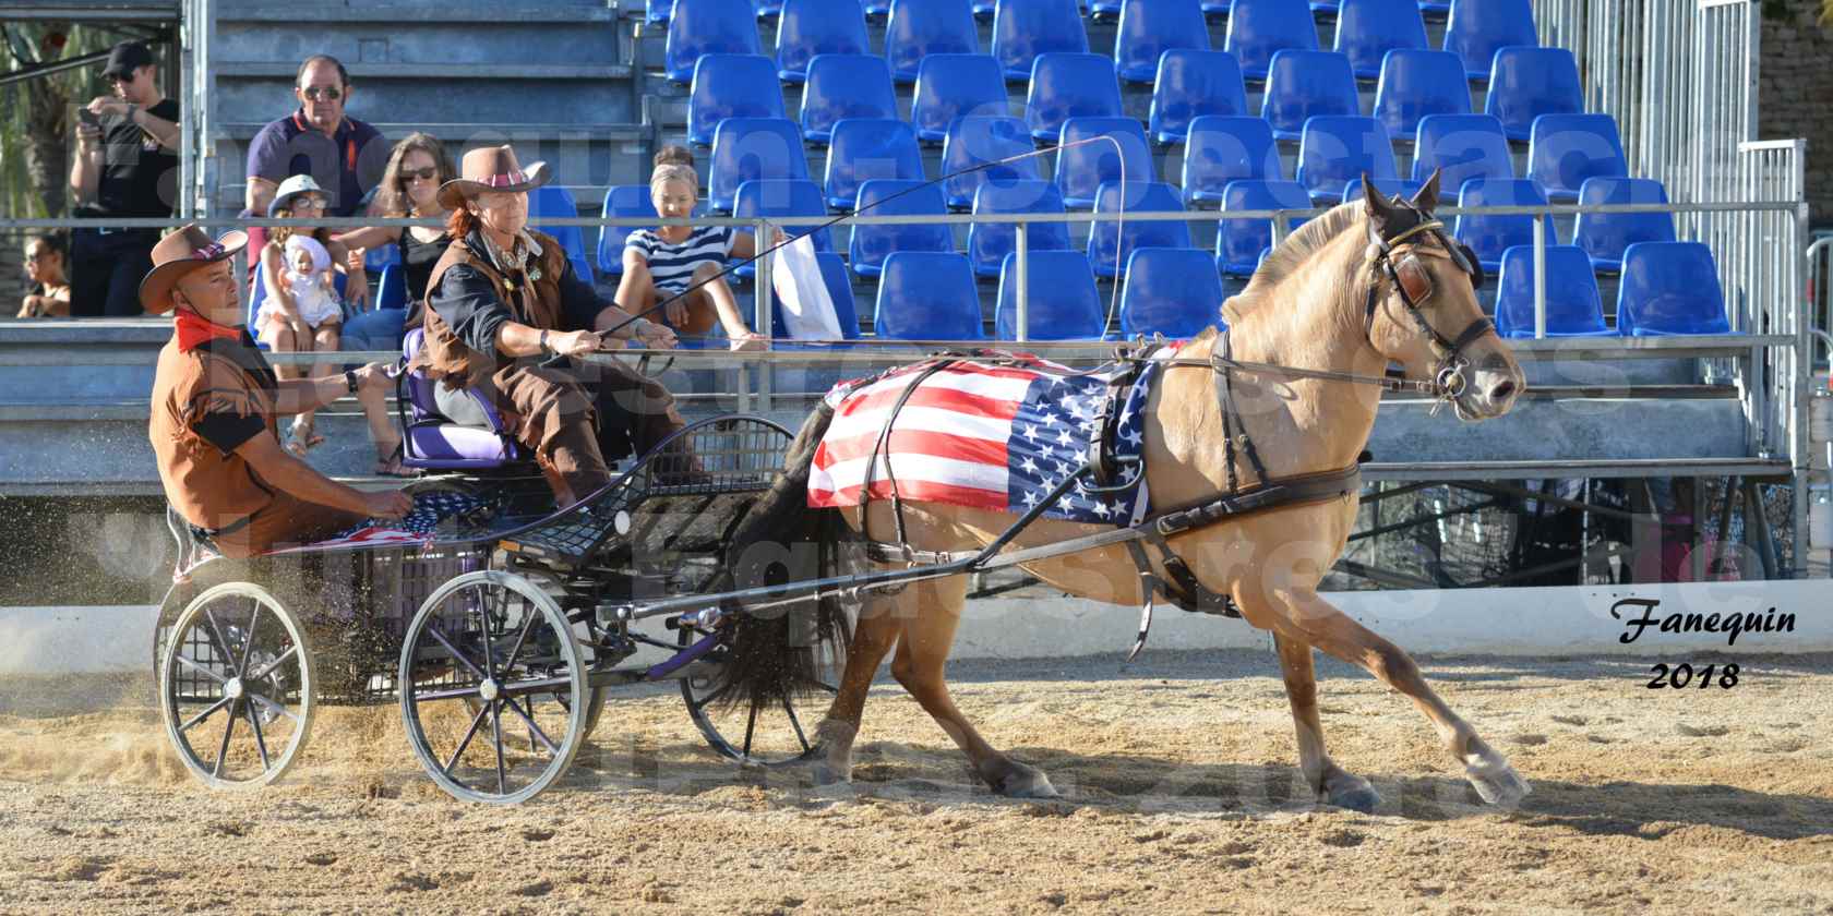
[[[315,711],[304,628],[271,592],[224,583],[191,601],[159,660],[159,707],[180,760],[213,788],[280,779]]]

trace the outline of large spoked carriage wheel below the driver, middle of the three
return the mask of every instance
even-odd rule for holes
[[[401,722],[427,775],[464,801],[515,804],[557,780],[587,735],[579,643],[521,575],[475,572],[427,597],[401,645]]]

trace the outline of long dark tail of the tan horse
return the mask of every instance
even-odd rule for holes
[[[852,531],[840,509],[808,507],[808,473],[834,409],[816,407],[783,460],[783,473],[752,506],[726,548],[726,584],[759,588],[836,575]],[[753,709],[812,694],[825,667],[845,663],[851,623],[836,597],[781,606],[728,606],[724,702]]]

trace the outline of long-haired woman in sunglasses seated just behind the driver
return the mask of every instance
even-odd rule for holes
[[[440,205],[440,185],[453,178],[458,178],[458,170],[453,169],[453,159],[445,154],[445,145],[431,134],[409,134],[394,145],[394,154],[389,156],[389,165],[381,172],[381,185],[376,189],[376,205],[370,209],[370,214],[440,220],[444,224],[449,211]],[[433,275],[433,266],[438,264],[440,255],[445,253],[445,245],[451,244],[451,233],[444,225],[374,225],[345,233],[337,240],[352,249],[387,244],[401,247],[407,313],[379,315],[370,311],[350,319],[350,324],[345,328],[345,341],[352,337],[367,341],[392,337],[389,348],[400,346],[401,328],[420,324],[420,310],[425,308],[427,299],[427,278]],[[390,326],[383,328],[383,322],[390,322]],[[383,346],[376,348],[381,350]]]

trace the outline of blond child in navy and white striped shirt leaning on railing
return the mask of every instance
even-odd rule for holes
[[[693,165],[680,161],[686,150],[675,150],[680,147],[656,152],[658,165],[649,176],[649,198],[656,214],[665,220],[693,216],[695,203],[700,202],[700,176]],[[623,242],[618,304],[632,315],[643,315],[665,302],[662,321],[680,333],[706,333],[717,322],[726,328],[733,350],[763,348],[768,337],[744,324],[739,299],[720,277],[726,258],[748,258],[755,253],[752,234],[730,225],[638,229]]]

